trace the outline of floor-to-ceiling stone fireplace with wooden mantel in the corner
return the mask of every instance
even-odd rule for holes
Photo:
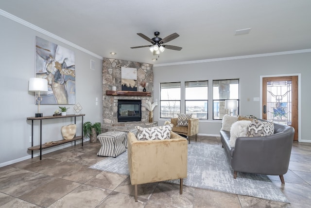
[[[126,94],[125,91],[121,91],[121,67],[130,67],[137,69],[137,86],[138,92],[143,91],[143,87],[139,84],[146,82],[146,90],[148,94],[138,93],[138,95]],[[107,132],[115,129],[129,129],[135,126],[149,127],[156,126],[157,122],[149,123],[148,115],[149,111],[143,106],[147,100],[154,102],[153,92],[153,65],[148,63],[140,63],[134,61],[126,61],[113,58],[103,58],[103,122],[102,122],[102,132]],[[117,91],[120,94],[108,94],[107,91],[112,91],[112,86],[116,86]],[[125,93],[124,93],[125,92]],[[140,120],[138,121],[122,121],[118,120],[118,115],[120,112],[118,107],[119,100],[140,100]],[[131,109],[127,109],[131,112]],[[127,112],[128,113],[128,112]],[[125,110],[123,115],[125,115]]]

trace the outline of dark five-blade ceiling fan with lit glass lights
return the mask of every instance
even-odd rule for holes
[[[148,38],[147,36],[145,36],[142,33],[138,33],[137,35],[140,36],[141,38],[144,38],[148,42],[151,42],[152,45],[135,46],[135,47],[131,47],[132,49],[133,48],[150,47],[149,50],[154,55],[160,54],[160,52],[163,52],[165,49],[171,49],[171,50],[176,50],[176,51],[180,51],[182,49],[182,47],[179,47],[179,46],[164,44],[164,43],[167,43],[167,42],[169,42],[175,38],[178,38],[179,35],[177,33],[173,33],[172,35],[169,35],[168,37],[165,37],[163,39],[158,37],[160,35],[160,32],[155,32],[155,38],[152,38],[152,39]]]

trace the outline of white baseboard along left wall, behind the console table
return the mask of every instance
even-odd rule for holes
[[[89,139],[84,139],[83,142],[87,142],[89,141]],[[76,141],[76,145],[77,144],[81,144],[82,141],[81,140],[77,140]],[[44,154],[47,154],[47,153],[50,153],[52,151],[57,151],[57,150],[61,150],[61,149],[64,149],[64,148],[67,148],[67,147],[71,147],[71,146],[74,146],[74,143],[67,143],[67,144],[64,144],[64,145],[59,145],[59,146],[55,146],[53,148],[47,148],[47,149],[44,149],[42,150],[42,155]],[[34,157],[37,157],[37,156],[40,156],[40,151],[34,151]],[[28,160],[28,159],[31,159],[31,154],[30,155],[27,155],[27,156],[24,156],[24,157],[20,157],[20,158],[17,158],[17,159],[14,159],[14,160],[10,160],[10,161],[7,161],[7,162],[4,162],[4,163],[0,163],[0,168],[1,167],[4,167],[4,166],[8,166],[8,165],[12,165],[14,163],[18,163],[20,161],[23,161],[23,160]]]

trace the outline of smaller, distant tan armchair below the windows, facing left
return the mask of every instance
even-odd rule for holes
[[[178,118],[171,118],[171,123],[174,125],[172,131],[175,133],[185,134],[187,136],[195,135],[196,141],[196,134],[199,132],[199,119],[197,118],[188,119],[188,126],[177,126],[177,119]]]

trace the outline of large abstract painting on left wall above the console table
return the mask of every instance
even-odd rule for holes
[[[75,104],[74,52],[35,37],[35,76],[48,80],[40,104]]]

